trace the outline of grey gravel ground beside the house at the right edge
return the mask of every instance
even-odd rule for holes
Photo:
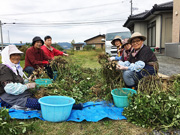
[[[180,74],[180,59],[165,56],[164,54],[156,54],[159,62],[159,73],[171,76]]]

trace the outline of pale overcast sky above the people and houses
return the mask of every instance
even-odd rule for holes
[[[132,0],[133,14],[172,0]],[[106,32],[128,31],[130,0],[0,0],[4,43],[32,42],[46,35],[55,42],[84,42]],[[5,23],[5,24],[4,24]],[[1,40],[0,40],[1,42]]]

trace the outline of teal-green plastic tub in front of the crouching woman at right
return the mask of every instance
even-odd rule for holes
[[[111,91],[113,101],[116,107],[128,107],[129,105],[129,94],[136,94],[136,91],[129,88],[114,89]]]

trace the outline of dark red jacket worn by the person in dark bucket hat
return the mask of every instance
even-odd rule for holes
[[[30,66],[35,69],[38,66],[42,67],[44,64],[48,64],[48,60],[51,60],[51,57],[45,55],[42,49],[35,49],[33,46],[28,48],[25,56],[25,67]]]

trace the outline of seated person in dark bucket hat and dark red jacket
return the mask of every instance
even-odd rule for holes
[[[44,51],[41,49],[43,44],[43,40],[36,36],[32,40],[32,47],[28,48],[26,51],[24,71],[27,72],[29,76],[38,67],[44,67],[49,64],[48,60],[52,59],[45,55]],[[52,76],[50,78],[52,78]]]

